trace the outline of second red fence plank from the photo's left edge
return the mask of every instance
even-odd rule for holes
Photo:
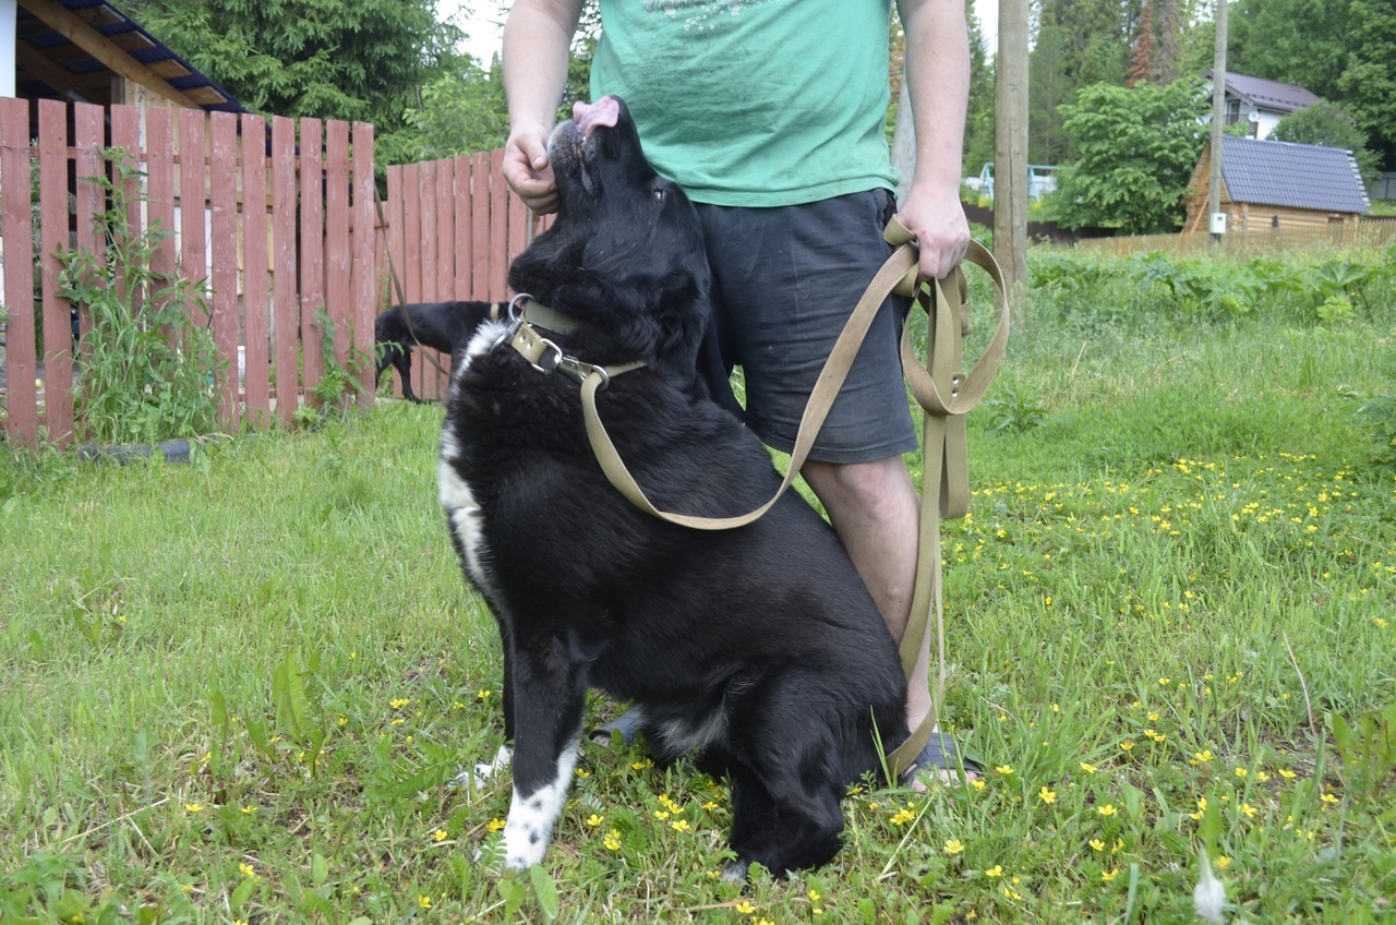
[[[68,108],[39,101],[39,268],[43,291],[43,423],[59,446],[73,440],[73,327],[59,298],[59,249],[68,247]]]

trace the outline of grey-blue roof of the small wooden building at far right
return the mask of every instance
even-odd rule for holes
[[[1323,212],[1371,207],[1357,161],[1342,148],[1223,137],[1222,182],[1234,203]]]

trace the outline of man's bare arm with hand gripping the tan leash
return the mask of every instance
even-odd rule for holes
[[[906,88],[916,129],[916,170],[898,219],[921,245],[921,277],[945,278],[969,246],[959,201],[969,103],[965,3],[898,0],[896,6],[906,29]]]

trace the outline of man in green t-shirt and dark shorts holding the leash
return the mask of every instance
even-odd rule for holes
[[[517,0],[504,28],[510,138],[504,179],[532,210],[557,208],[547,137],[584,0]],[[959,264],[969,94],[963,0],[898,0],[916,170],[889,190],[889,0],[600,0],[592,99],[625,99],[655,168],[694,200],[713,271],[706,362],[713,393],[741,365],[747,425],[789,450],[814,380],[889,249],[892,211],[920,242],[920,274]],[[801,474],[893,639],[906,632],[920,500],[896,335],[905,302],[882,306]],[[931,708],[930,641],[907,687],[914,728]],[[624,727],[621,731],[625,731]],[[919,767],[958,767],[933,735]]]

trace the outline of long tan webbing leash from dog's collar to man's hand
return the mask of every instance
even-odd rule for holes
[[[790,465],[780,482],[780,488],[776,489],[771,500],[747,514],[736,517],[698,517],[659,510],[645,496],[645,492],[625,468],[610,435],[606,433],[606,426],[602,423],[596,408],[596,395],[610,384],[613,376],[638,369],[642,363],[599,367],[565,356],[556,344],[539,335],[528,323],[524,323],[522,313],[518,313],[518,321],[514,320],[515,303],[521,299],[526,300],[529,306],[525,312],[533,313],[536,309],[544,307],[537,306],[529,296],[517,296],[515,302],[510,303],[511,327],[501,335],[498,342],[508,341],[540,372],[556,369],[581,383],[582,414],[592,451],[596,454],[596,460],[606,474],[607,481],[632,504],[648,514],[681,527],[694,530],[733,530],[755,521],[771,510],[800,474],[800,468],[808,458],[810,449],[814,444],[814,437],[824,425],[829,408],[833,405],[833,400],[838,397],[843,380],[853,366],[853,359],[872,323],[872,317],[886,296],[891,293],[910,296],[913,307],[920,307],[927,313],[926,362],[923,363],[912,351],[909,324],[903,324],[902,327],[899,348],[902,367],[910,384],[912,394],[923,409],[923,458],[926,465],[921,479],[920,546],[916,584],[912,598],[912,612],[907,618],[906,632],[902,636],[900,658],[903,673],[910,676],[920,648],[926,641],[926,633],[930,630],[930,613],[934,608],[938,669],[935,690],[931,697],[931,711],[912,731],[912,735],[886,756],[888,770],[892,774],[891,780],[899,780],[902,773],[916,763],[916,757],[921,749],[926,748],[945,697],[945,613],[941,590],[940,527],[942,518],[955,520],[963,517],[969,510],[969,442],[965,430],[965,415],[988,391],[988,386],[1002,362],[1004,351],[1008,345],[1009,307],[1004,288],[1004,275],[998,263],[988,249],[976,240],[970,240],[965,260],[984,270],[993,279],[995,302],[998,305],[998,327],[973,369],[966,374],[963,372],[963,335],[969,331],[969,314],[967,286],[963,271],[956,267],[945,281],[955,296],[953,299],[946,295],[946,288],[940,279],[931,279],[923,286],[916,278],[919,254],[912,233],[893,218],[882,236],[896,250],[893,250],[892,256],[886,258],[872,277],[867,291],[859,299],[853,313],[845,323],[843,331],[840,331],[829,352],[824,370],[821,370],[814,390],[810,393],[804,414],[800,418],[794,449],[790,451]],[[553,327],[544,321],[540,323],[544,327]],[[553,330],[564,333],[556,327]],[[933,486],[935,492],[934,499],[931,497]]]

